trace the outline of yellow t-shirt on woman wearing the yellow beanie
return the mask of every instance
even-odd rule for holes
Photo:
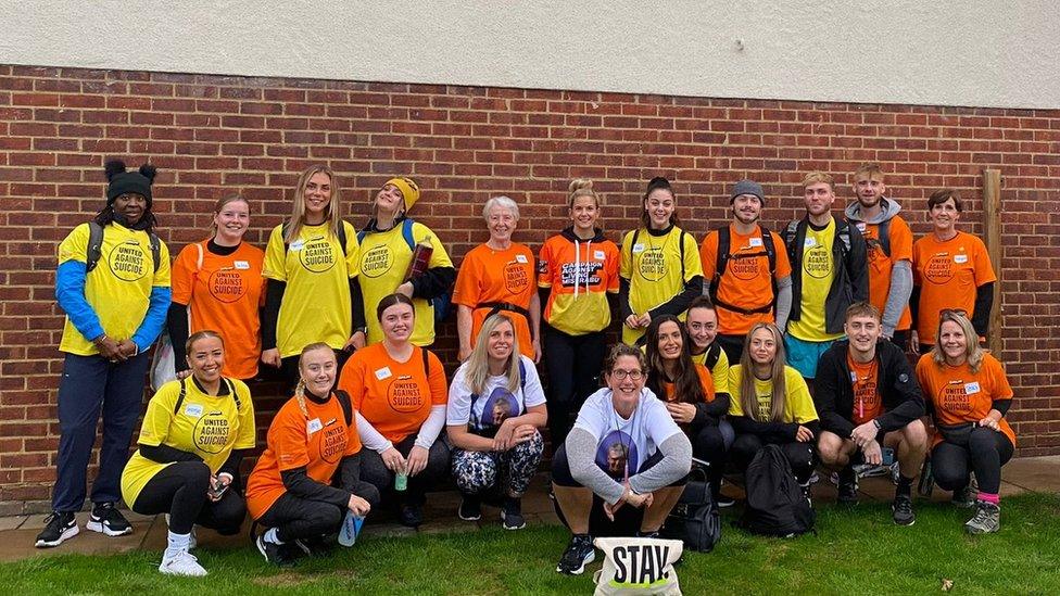
[[[376,305],[383,296],[394,293],[394,290],[404,282],[408,264],[413,259],[413,252],[405,242],[402,227],[402,223],[399,221],[387,231],[366,233],[361,241],[357,274],[361,276],[361,292],[364,295],[365,320],[368,322],[368,343],[382,341],[382,329],[379,328],[379,321],[376,319]],[[429,239],[431,248],[434,249],[428,267],[453,266],[438,234],[430,228],[414,223],[413,239],[417,244]],[[416,345],[434,343],[434,307],[431,306],[430,301],[424,299],[413,299],[413,306],[416,309],[416,324],[409,341]]]

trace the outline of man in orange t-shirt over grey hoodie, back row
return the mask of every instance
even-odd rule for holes
[[[898,215],[901,206],[884,196],[886,191],[878,164],[856,169],[854,194],[858,200],[847,205],[846,220],[857,226],[869,246],[869,302],[883,313],[883,337],[905,350],[912,327],[912,230]]]

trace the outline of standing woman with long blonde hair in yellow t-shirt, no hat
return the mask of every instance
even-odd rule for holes
[[[324,342],[339,366],[365,345],[364,307],[355,281],[361,251],[342,219],[339,181],[324,165],[299,176],[291,217],[265,249],[268,278],[262,319],[262,362],[280,367],[291,389],[302,348]]]

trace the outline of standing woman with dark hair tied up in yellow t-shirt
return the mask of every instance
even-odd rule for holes
[[[674,315],[684,320],[692,299],[703,293],[698,246],[678,226],[670,181],[652,178],[643,207],[643,227],[622,238],[618,308],[622,342],[630,345],[641,340],[655,317]]]

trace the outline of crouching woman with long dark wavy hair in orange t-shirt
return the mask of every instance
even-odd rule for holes
[[[729,394],[715,393],[707,367],[692,362],[692,340],[673,315],[652,319],[645,334],[647,386],[666,403],[673,421],[692,442],[692,455],[710,464],[710,490],[715,503],[721,494],[721,472],[729,445],[720,424],[729,411]],[[730,431],[728,436],[733,436]]]

